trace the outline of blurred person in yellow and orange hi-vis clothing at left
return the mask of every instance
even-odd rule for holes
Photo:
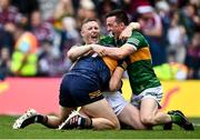
[[[31,32],[18,26],[18,40],[11,57],[10,70],[14,76],[33,77],[37,74],[38,40]]]

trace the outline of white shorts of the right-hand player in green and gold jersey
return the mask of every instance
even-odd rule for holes
[[[131,97],[131,104],[133,104],[137,108],[140,108],[140,103],[142,99],[147,99],[147,98],[151,98],[154,99],[158,102],[159,108],[160,106],[160,101],[162,99],[162,87],[156,87],[156,88],[149,88],[143,90],[140,94],[138,96],[132,96]]]

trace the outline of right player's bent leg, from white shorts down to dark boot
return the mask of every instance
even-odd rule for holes
[[[182,127],[184,130],[193,130],[192,123],[184,117],[184,114],[177,110],[171,113],[166,113],[158,111],[161,87],[151,88],[143,92],[146,94],[141,99],[140,104],[140,118],[142,123],[156,126],[156,124],[167,124],[170,129],[170,123],[176,123]]]

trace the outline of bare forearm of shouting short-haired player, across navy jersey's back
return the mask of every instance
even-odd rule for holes
[[[68,58],[73,62],[78,58],[86,56],[92,50],[91,46],[73,46],[67,53]]]

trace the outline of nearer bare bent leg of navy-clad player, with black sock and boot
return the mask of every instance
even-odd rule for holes
[[[90,117],[90,118],[89,118]],[[119,121],[104,99],[81,107],[73,111],[59,129],[119,129]]]

